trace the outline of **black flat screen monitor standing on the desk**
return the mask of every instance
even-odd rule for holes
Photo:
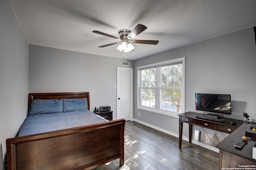
[[[196,93],[196,110],[231,115],[231,96]]]

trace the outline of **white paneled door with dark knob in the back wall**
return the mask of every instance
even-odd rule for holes
[[[117,113],[116,119],[126,119],[130,121],[132,119],[132,68],[117,67]]]

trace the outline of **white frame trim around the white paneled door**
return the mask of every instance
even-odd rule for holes
[[[116,67],[116,112],[117,112],[117,105],[118,105],[118,96],[117,96],[117,91],[118,91],[118,82],[117,82],[117,77],[118,77],[118,71],[119,69],[125,69],[125,70],[130,70],[130,121],[133,121],[133,68],[128,68],[128,67]],[[116,113],[116,119],[117,119],[117,114]]]

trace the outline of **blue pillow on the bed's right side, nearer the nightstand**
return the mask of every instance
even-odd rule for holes
[[[63,112],[88,110],[87,98],[63,99]]]

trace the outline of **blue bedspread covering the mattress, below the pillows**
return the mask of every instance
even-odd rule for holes
[[[18,136],[80,127],[107,120],[89,110],[29,115],[20,127]]]

